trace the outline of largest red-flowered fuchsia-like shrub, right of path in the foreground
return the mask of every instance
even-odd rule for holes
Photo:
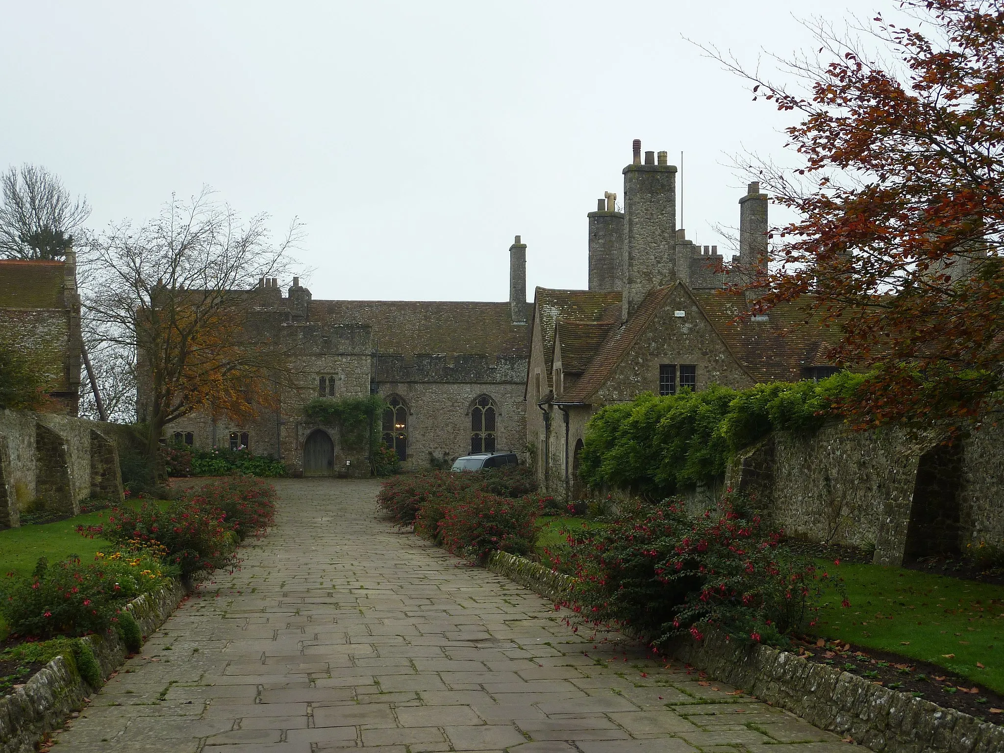
[[[686,633],[701,640],[710,628],[784,644],[813,623],[811,604],[829,576],[779,547],[780,537],[728,497],[700,516],[675,500],[638,504],[609,526],[569,535],[563,554],[580,583],[573,606],[588,621],[631,628],[657,649]]]

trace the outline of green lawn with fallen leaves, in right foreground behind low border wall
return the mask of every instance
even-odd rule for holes
[[[1004,586],[900,567],[822,564],[843,577],[850,606],[841,608],[827,592],[818,636],[930,662],[1004,693]]]

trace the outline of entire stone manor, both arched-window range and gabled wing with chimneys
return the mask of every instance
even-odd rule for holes
[[[587,215],[587,290],[538,287],[526,301],[526,246],[509,248],[509,300],[314,300],[294,278],[249,294],[256,320],[295,343],[299,383],[278,410],[252,422],[194,414],[168,439],[199,448],[246,448],[294,473],[359,475],[365,458],[338,432],[304,417],[315,397],[381,395],[381,433],[408,470],[472,452],[512,450],[552,493],[576,493],[585,423],[598,408],[643,392],[672,395],[711,384],[742,388],[834,370],[818,332],[791,328],[783,307],[741,324],[747,305],[722,288],[766,263],[767,196],[740,198],[740,248],[726,265],[717,247],[676,226],[677,168],[634,144],[614,194]]]

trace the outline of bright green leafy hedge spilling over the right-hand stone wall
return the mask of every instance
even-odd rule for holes
[[[713,385],[700,393],[657,397],[600,409],[580,456],[592,487],[656,497],[720,478],[735,453],[771,431],[810,431],[840,416],[863,376],[846,371],[820,382],[773,383],[748,390]]]

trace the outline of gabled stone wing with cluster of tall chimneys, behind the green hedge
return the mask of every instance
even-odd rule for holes
[[[677,168],[667,153],[634,143],[623,173],[623,212],[615,194],[588,218],[588,290],[538,287],[530,316],[526,381],[527,446],[539,482],[575,496],[578,454],[589,417],[644,392],[674,395],[712,384],[746,388],[774,380],[819,379],[820,329],[778,306],[741,323],[742,295],[728,283],[765,269],[767,204],[757,183],[739,199],[739,255],[726,265],[716,246],[695,245],[676,224]]]

